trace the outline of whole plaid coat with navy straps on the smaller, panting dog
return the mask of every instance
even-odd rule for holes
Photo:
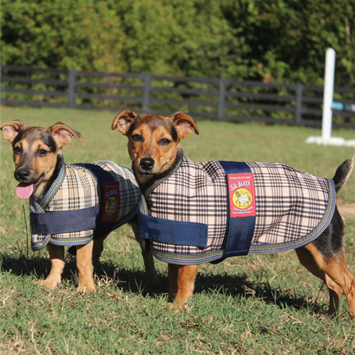
[[[30,199],[32,250],[48,242],[83,245],[128,222],[138,211],[133,172],[107,160],[63,164],[41,203]]]

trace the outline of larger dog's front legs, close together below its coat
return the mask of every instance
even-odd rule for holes
[[[181,310],[195,288],[197,265],[168,264],[168,301]]]

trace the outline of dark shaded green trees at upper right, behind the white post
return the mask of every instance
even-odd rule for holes
[[[250,44],[247,55],[253,74],[260,63],[258,73],[266,80],[322,84],[324,53],[333,47],[337,83],[354,84],[353,1],[226,0],[225,4],[226,18]]]

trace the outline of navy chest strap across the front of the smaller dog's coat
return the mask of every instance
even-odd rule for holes
[[[72,211],[29,214],[31,234],[59,234],[94,229],[99,206]]]

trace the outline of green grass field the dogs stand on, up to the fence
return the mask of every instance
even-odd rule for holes
[[[64,147],[67,163],[109,159],[130,166],[126,137],[110,129],[114,113],[2,108],[1,122],[21,119],[47,127],[62,121],[84,142]],[[200,136],[183,142],[195,161],[282,161],[332,178],[353,148],[307,145],[319,130],[302,127],[198,121]],[[354,131],[333,133],[354,138]],[[75,292],[75,259],[67,257],[60,287],[38,288],[49,272],[46,251],[27,246],[24,206],[15,195],[12,150],[1,137],[0,354],[353,354],[355,323],[343,297],[335,320],[328,291],[303,268],[294,251],[229,258],[198,269],[196,290],[180,313],[169,310],[165,263],[155,261],[159,284],[144,280],[138,244],[128,226],[111,233],[99,269],[97,292]],[[355,173],[339,193],[355,202]],[[345,247],[355,274],[355,219],[348,218]],[[29,230],[29,227],[28,227]]]

